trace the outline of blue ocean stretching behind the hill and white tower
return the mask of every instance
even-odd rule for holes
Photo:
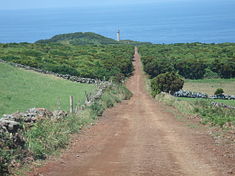
[[[116,7],[0,10],[0,43],[95,32],[152,43],[235,42],[235,2],[162,2]]]

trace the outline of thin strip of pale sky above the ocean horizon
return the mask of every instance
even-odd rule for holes
[[[189,2],[197,0],[1,0],[0,9],[61,8],[81,6],[105,6],[147,4],[161,2]]]

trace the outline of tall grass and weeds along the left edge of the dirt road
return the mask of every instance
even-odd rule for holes
[[[49,155],[58,154],[69,143],[71,134],[78,133],[84,126],[95,123],[107,108],[122,100],[130,99],[132,93],[123,85],[113,85],[105,90],[101,99],[90,107],[81,110],[79,114],[69,115],[64,119],[48,119],[37,122],[32,128],[26,129],[26,148],[35,160],[43,160]],[[30,166],[13,170],[18,176],[25,175]]]

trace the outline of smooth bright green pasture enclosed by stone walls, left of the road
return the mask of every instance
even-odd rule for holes
[[[73,83],[0,63],[0,116],[33,107],[68,110],[69,96],[74,96],[76,102],[84,102],[85,91],[94,90],[94,85]]]

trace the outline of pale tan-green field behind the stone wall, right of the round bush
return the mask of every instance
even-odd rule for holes
[[[222,88],[225,94],[235,95],[235,79],[199,79],[185,80],[184,90],[214,95],[216,89]]]

